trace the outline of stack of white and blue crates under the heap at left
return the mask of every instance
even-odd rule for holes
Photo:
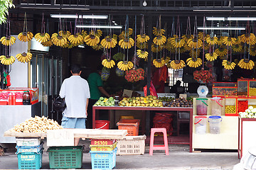
[[[40,138],[16,138],[18,169],[41,169],[43,142]]]

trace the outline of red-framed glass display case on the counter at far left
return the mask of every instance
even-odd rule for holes
[[[23,91],[29,91],[31,94],[31,104],[38,102],[38,88],[9,88],[0,90],[0,105],[7,105],[10,94],[14,94],[16,105],[22,105]]]

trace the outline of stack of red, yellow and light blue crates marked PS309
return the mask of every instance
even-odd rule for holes
[[[113,169],[116,166],[117,142],[115,140],[91,140],[92,169]]]

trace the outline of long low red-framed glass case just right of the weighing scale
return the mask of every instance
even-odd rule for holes
[[[214,96],[237,96],[238,87],[228,86],[213,86],[213,97]]]

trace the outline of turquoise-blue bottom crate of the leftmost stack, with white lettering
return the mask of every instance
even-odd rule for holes
[[[43,148],[40,152],[20,152],[18,154],[18,169],[41,169]]]

